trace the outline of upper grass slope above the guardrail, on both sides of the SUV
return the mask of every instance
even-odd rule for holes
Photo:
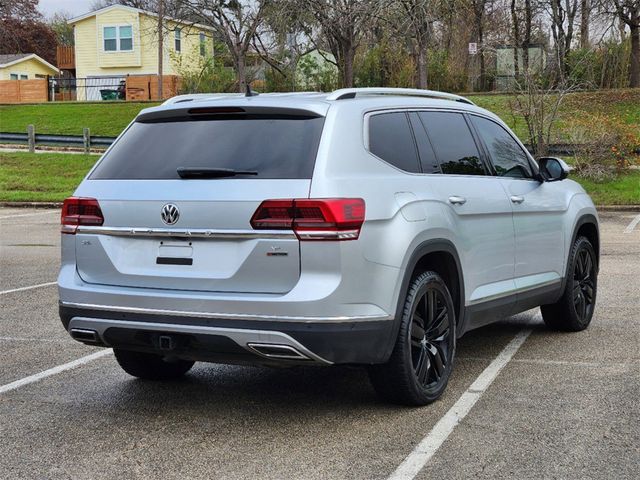
[[[514,117],[509,95],[469,95],[480,107],[502,118],[523,140],[527,141],[524,120]],[[0,132],[26,132],[32,123],[36,133],[82,135],[89,127],[92,135],[116,136],[146,107],[155,103],[72,103],[57,102],[41,105],[0,105]],[[574,93],[567,97],[558,118],[560,139],[563,131],[571,129],[572,120],[585,113],[599,113],[618,117],[640,129],[640,89],[599,90]]]

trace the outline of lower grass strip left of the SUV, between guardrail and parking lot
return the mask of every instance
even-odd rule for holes
[[[0,152],[0,201],[60,202],[70,196],[97,155]]]

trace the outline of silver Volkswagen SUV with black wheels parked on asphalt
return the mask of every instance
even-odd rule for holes
[[[359,364],[423,405],[465,332],[591,321],[598,219],[567,173],[446,93],[176,97],[65,201],[60,317],[140,378]]]

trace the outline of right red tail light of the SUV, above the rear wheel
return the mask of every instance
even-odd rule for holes
[[[251,218],[255,230],[293,230],[300,240],[356,240],[364,223],[361,198],[265,200]]]

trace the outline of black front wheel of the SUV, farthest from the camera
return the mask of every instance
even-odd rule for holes
[[[578,237],[571,247],[567,279],[562,297],[553,304],[542,305],[547,327],[565,332],[579,332],[591,323],[598,291],[596,253],[586,237]]]

